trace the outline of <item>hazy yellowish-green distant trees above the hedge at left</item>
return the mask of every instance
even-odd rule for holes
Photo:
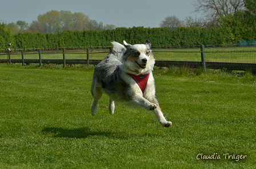
[[[45,14],[39,14],[37,20],[30,24],[18,20],[16,23],[6,24],[15,34],[19,32],[50,33],[55,34],[62,31],[83,31],[83,30],[113,30],[113,24],[103,24],[97,20],[90,19],[83,13],[71,13],[71,11],[51,10]]]

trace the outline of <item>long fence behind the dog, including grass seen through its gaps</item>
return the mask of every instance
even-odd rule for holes
[[[72,47],[73,49],[75,47]],[[22,65],[42,64],[98,64],[109,53],[108,47],[87,48],[76,50],[37,50],[0,53],[0,63],[22,63]],[[256,46],[239,47],[211,47],[194,46],[190,48],[153,48],[156,59],[155,65],[159,67],[191,67],[210,69],[233,69],[256,71]]]

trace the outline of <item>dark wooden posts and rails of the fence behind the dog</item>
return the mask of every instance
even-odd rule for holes
[[[26,52],[27,53],[27,52]],[[46,53],[44,51],[44,53]],[[38,59],[24,59],[24,52],[21,53],[2,53],[0,55],[7,55],[6,59],[0,59],[0,63],[22,63],[22,65],[30,64],[30,63],[39,63],[40,66],[42,64],[63,64],[63,67],[66,67],[66,64],[87,64],[87,65],[97,65],[101,60],[91,60],[90,54],[92,53],[108,53],[108,52],[89,52],[89,49],[86,52],[82,53],[86,55],[86,59],[66,59],[66,51],[62,50],[63,59],[42,59],[41,50],[38,51]],[[69,54],[77,54],[70,53]],[[81,53],[79,53],[81,54]],[[21,55],[22,59],[11,59],[11,55]],[[256,71],[256,63],[233,63],[233,62],[210,62],[205,61],[204,58],[204,49],[201,46],[201,61],[172,61],[172,60],[156,60],[155,65],[158,67],[190,67],[190,68],[199,68],[203,69],[231,69],[231,70],[241,70],[245,71],[247,69],[251,71]]]

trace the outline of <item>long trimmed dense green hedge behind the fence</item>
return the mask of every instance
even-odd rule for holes
[[[0,30],[1,31],[1,30]],[[88,47],[110,46],[112,41],[136,44],[149,39],[153,46],[194,46],[199,44],[231,44],[237,43],[229,30],[219,28],[116,28],[105,31],[64,31],[57,34],[19,33],[7,38],[12,48],[52,48],[52,47]],[[1,46],[0,48],[3,48]]]

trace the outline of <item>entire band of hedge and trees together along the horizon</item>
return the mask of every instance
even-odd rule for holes
[[[168,22],[162,22],[159,28],[115,28],[82,13],[50,11],[38,15],[30,25],[19,20],[15,24],[19,30],[16,33],[10,29],[10,24],[0,23],[0,48],[8,43],[13,48],[51,48],[110,46],[111,41],[123,40],[135,44],[144,43],[145,39],[153,46],[218,45],[256,40],[256,0],[196,1],[208,20],[202,22],[203,19],[187,17],[181,22],[177,17],[168,17]]]

